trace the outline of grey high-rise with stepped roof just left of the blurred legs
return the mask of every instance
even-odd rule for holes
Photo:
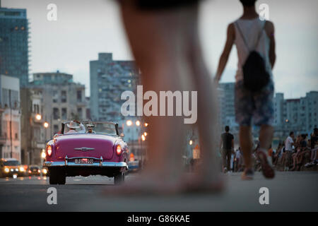
[[[99,53],[90,61],[90,115],[93,120],[122,121],[120,109],[126,90],[135,93],[139,71],[134,61],[114,61],[111,53]]]

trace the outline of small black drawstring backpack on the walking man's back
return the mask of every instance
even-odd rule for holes
[[[235,22],[237,25],[237,30],[239,30],[240,35],[242,36],[242,39],[247,47],[249,49],[247,42],[245,40],[245,37],[240,30],[240,26],[237,22]],[[263,31],[264,27],[261,28],[261,32]],[[257,45],[259,44],[259,39],[261,37],[261,32],[259,32],[259,36],[257,38]],[[256,49],[254,47],[254,49]],[[249,49],[249,56],[247,57],[247,60],[245,61],[244,65],[242,66],[243,70],[243,81],[244,86],[247,90],[252,92],[257,92],[264,88],[270,80],[269,73],[266,71],[265,61],[264,58],[261,57],[259,52],[256,50]]]

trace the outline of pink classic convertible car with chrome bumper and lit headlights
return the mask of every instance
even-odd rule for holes
[[[128,169],[128,147],[122,136],[112,122],[64,122],[61,133],[47,143],[43,166],[49,169],[49,184],[96,174],[114,177],[114,184],[121,184]]]

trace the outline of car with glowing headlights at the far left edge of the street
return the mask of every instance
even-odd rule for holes
[[[25,168],[15,158],[1,158],[0,160],[0,177],[13,177],[25,175]]]

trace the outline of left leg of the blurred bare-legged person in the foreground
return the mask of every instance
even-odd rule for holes
[[[187,7],[184,7],[187,8]],[[122,1],[122,19],[136,64],[141,69],[143,93],[192,90],[184,61],[184,8],[169,11],[140,11],[132,1]],[[159,110],[158,110],[159,112]],[[148,162],[141,180],[148,189],[177,186],[182,174],[182,117],[146,117]]]

